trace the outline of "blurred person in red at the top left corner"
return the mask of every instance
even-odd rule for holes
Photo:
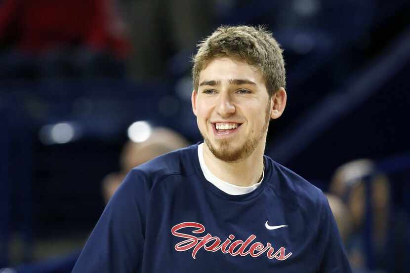
[[[128,52],[115,0],[0,3],[4,78],[105,76],[103,69],[110,73],[108,67],[121,64]]]

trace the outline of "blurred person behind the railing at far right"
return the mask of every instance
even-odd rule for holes
[[[377,171],[370,159],[356,159],[339,166],[331,179],[330,193],[346,204],[352,220],[352,231],[346,240],[346,250],[355,272],[368,272],[364,246],[366,221],[366,179],[371,186],[371,238],[373,260],[377,270],[405,272],[406,221],[398,220],[399,211],[390,207],[390,181]]]

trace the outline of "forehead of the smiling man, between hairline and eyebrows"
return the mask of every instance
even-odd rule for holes
[[[246,79],[256,84],[264,84],[265,82],[258,68],[246,63],[246,61],[229,57],[212,59],[199,75],[199,83],[204,80],[224,81],[231,79]]]

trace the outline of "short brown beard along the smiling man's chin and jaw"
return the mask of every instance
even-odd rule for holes
[[[266,131],[268,130],[269,120],[270,120],[270,108],[271,104],[268,102],[268,105],[265,110],[265,124],[263,125],[260,134],[255,136],[254,138],[247,139],[245,144],[242,147],[234,149],[231,146],[230,140],[222,139],[217,140],[219,143],[219,149],[214,147],[212,143],[209,141],[208,138],[202,134],[204,137],[204,141],[208,146],[211,153],[218,159],[221,159],[225,162],[239,162],[242,159],[248,157],[253,151],[255,151],[256,147],[259,145],[260,141],[265,136]]]

